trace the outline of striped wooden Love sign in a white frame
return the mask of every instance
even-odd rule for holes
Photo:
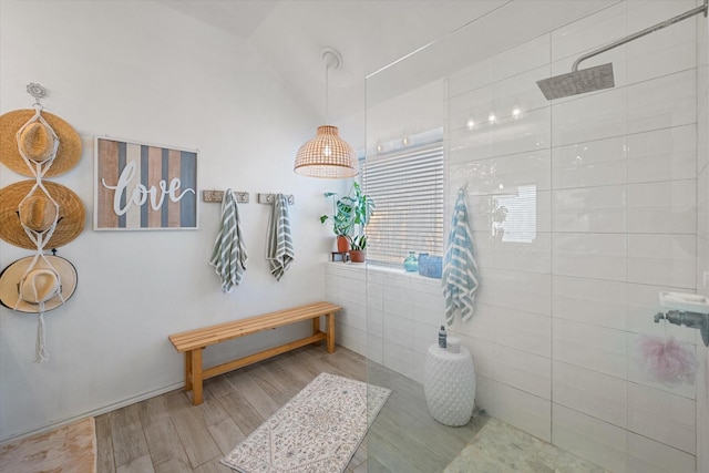
[[[197,152],[96,137],[95,230],[197,228]]]

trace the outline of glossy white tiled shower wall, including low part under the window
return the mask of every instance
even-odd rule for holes
[[[659,291],[706,291],[706,19],[583,63],[613,62],[614,89],[549,103],[535,81],[696,4],[619,2],[448,78],[449,207],[466,184],[482,278],[473,320],[452,331],[473,353],[476,402],[614,472],[696,471],[697,389],[648,379],[635,342],[672,336],[706,369],[697,330],[654,322]],[[494,238],[495,199],[522,188],[533,189],[533,236]],[[327,273],[328,297],[346,307],[339,340],[421,381],[443,321],[440,282],[371,266]]]

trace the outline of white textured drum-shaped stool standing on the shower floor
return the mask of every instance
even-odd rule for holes
[[[465,347],[452,353],[438,345],[429,347],[423,391],[431,417],[445,425],[465,425],[475,405],[475,369]]]

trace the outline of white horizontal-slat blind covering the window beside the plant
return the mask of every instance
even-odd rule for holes
[[[367,226],[367,260],[400,266],[409,251],[442,255],[442,143],[367,160],[362,174],[377,206]]]

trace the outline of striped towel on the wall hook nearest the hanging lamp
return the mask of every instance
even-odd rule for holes
[[[290,266],[290,263],[292,263],[295,256],[292,237],[290,236],[288,200],[282,194],[276,195],[274,199],[266,237],[268,238],[266,259],[270,264],[270,274],[278,281],[288,269],[288,266]]]

